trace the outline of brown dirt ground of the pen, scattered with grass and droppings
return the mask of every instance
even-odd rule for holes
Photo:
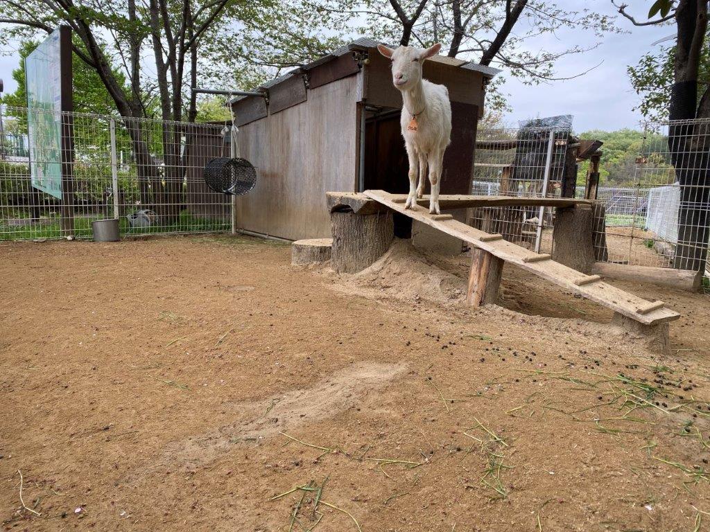
[[[708,297],[615,282],[682,314],[669,357],[513,267],[474,310],[465,258],[412,261],[0,243],[3,529],[710,530]]]

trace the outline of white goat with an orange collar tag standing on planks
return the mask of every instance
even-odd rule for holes
[[[396,50],[384,45],[377,48],[392,60],[392,82],[402,92],[400,123],[409,156],[409,196],[405,209],[413,209],[417,198],[424,194],[428,166],[429,182],[432,184],[429,212],[441,214],[439,186],[444,151],[451,141],[451,102],[444,85],[422,79],[422,63],[439,52],[442,45],[437,43],[426,50],[409,46],[400,46]]]

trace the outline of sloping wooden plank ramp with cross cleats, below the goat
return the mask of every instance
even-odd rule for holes
[[[636,297],[601,281],[599,275],[586,275],[573,270],[555,262],[550,255],[534,253],[503,240],[502,235],[485,233],[467,226],[465,223],[454,220],[450,214],[429,214],[429,209],[420,205],[417,205],[415,209],[405,210],[406,196],[403,194],[389,194],[383,190],[366,190],[364,194],[393,211],[460,238],[501,260],[511,262],[523,270],[528,270],[528,272],[547,279],[570,292],[591,299],[591,301],[606,306],[618,314],[638,321],[638,323],[655,325],[680,317],[677,312],[665,308],[662,301],[647,301]]]

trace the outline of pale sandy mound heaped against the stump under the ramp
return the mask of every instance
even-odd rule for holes
[[[407,301],[461,304],[466,297],[466,281],[442,270],[413,247],[410,240],[395,238],[390,249],[370,267],[354,275],[338,278],[339,291],[365,297],[393,297]]]

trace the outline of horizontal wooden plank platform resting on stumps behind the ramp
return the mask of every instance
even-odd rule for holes
[[[369,191],[379,192],[379,191]],[[384,192],[384,194],[388,194]],[[327,201],[329,211],[338,210],[339,208],[351,209],[355,214],[374,214],[382,211],[381,201],[374,200],[372,196],[365,193],[368,198],[364,198],[363,194],[357,192],[327,192]],[[404,205],[407,201],[407,194],[388,194],[388,199]],[[571,207],[574,205],[586,204],[591,205],[593,202],[589,199],[574,199],[574,198],[526,198],[523,196],[467,196],[464,194],[441,194],[439,196],[439,208],[442,211],[451,209],[469,209],[474,207],[508,207],[508,206],[545,206],[545,207]],[[429,207],[429,196],[424,196],[417,199],[417,204]]]

